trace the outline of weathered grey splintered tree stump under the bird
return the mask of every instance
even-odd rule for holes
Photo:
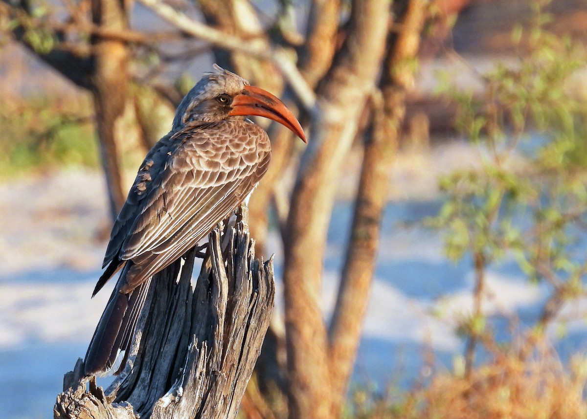
[[[273,261],[255,259],[248,227],[210,234],[193,289],[195,251],[153,277],[126,368],[104,392],[65,375],[56,419],[235,418],[274,305]],[[224,255],[222,243],[228,241]]]

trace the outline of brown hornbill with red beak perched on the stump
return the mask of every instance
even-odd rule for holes
[[[247,116],[277,121],[307,143],[281,100],[214,65],[181,100],[171,131],[147,153],[92,293],[120,271],[86,352],[87,377],[124,369],[153,275],[203,241],[265,174],[269,137]]]

